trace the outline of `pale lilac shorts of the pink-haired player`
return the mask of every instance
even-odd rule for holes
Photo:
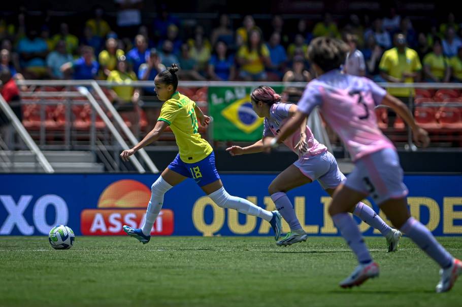
[[[328,151],[317,156],[303,156],[293,165],[312,181],[317,180],[323,189],[336,188],[346,179],[335,157]]]

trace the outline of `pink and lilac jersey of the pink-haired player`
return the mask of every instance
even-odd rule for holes
[[[270,118],[265,118],[265,129],[263,129],[263,137],[265,136],[275,136],[279,133],[281,127],[289,119],[289,108],[292,104],[290,103],[275,103],[270,108]],[[308,125],[305,130],[306,134],[306,143],[308,144],[308,151],[299,151],[295,149],[295,145],[300,141],[300,128],[297,131],[288,137],[284,144],[289,147],[293,152],[295,152],[299,158],[309,155],[317,156],[319,153],[327,151],[327,148],[319,143],[313,136],[313,133],[310,130]]]

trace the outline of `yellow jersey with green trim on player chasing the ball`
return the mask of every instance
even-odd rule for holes
[[[195,102],[179,92],[162,104],[158,121],[169,124],[184,163],[196,163],[212,153],[210,144],[197,132],[199,125],[194,111]]]

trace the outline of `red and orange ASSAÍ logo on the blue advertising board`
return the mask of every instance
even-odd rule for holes
[[[82,235],[124,235],[122,225],[140,228],[146,219],[151,190],[136,180],[119,180],[110,184],[98,200],[98,209],[85,209],[81,214]],[[160,210],[151,235],[173,233],[173,211]]]

